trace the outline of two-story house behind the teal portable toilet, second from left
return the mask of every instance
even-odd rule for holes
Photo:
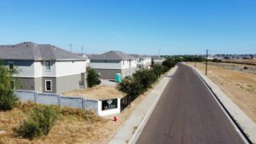
[[[89,55],[90,67],[100,74],[100,78],[114,79],[116,73],[122,78],[131,76],[137,70],[137,59],[120,51],[108,51],[102,55]]]

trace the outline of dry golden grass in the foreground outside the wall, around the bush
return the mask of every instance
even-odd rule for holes
[[[25,143],[103,143],[102,140],[108,137],[106,125],[113,123],[107,118],[100,118],[93,112],[73,108],[60,108],[61,118],[58,123],[50,130],[49,135],[35,140],[24,139],[15,136],[17,128],[22,120],[26,118],[26,111],[34,104],[23,104],[20,107],[8,112],[0,112],[0,129],[5,130],[6,134],[0,135],[1,144],[25,144]],[[108,128],[112,129],[112,128]],[[99,133],[103,132],[103,135]],[[109,130],[108,130],[109,131]],[[102,136],[103,139],[102,139]]]

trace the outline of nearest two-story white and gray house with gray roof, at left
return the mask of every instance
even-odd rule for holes
[[[0,60],[14,75],[15,89],[61,94],[86,87],[86,59],[50,44],[0,45]]]

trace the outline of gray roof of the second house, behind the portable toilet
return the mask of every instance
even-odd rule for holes
[[[137,58],[127,55],[121,51],[108,51],[102,55],[90,55],[90,60],[136,60]]]

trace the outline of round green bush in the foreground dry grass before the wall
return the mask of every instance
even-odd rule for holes
[[[17,132],[19,135],[30,139],[48,135],[59,116],[60,111],[52,106],[36,105],[29,111],[28,118],[23,121]]]

